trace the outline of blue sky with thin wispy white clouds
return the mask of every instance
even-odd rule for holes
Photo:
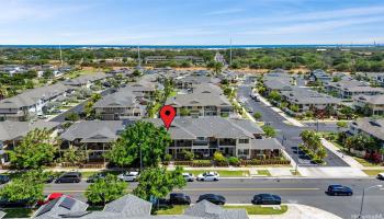
[[[0,44],[384,43],[383,0],[1,0]]]

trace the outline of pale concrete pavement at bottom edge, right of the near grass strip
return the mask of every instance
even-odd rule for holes
[[[249,216],[249,219],[341,219],[331,212],[300,204],[286,204],[289,209],[283,215]]]

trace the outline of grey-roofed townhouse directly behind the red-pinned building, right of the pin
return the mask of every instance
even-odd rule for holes
[[[166,105],[173,106],[177,116],[229,116],[234,112],[222,89],[212,83],[202,83],[192,93],[171,96]]]

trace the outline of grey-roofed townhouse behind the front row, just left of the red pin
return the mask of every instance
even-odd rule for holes
[[[117,91],[103,96],[94,106],[95,115],[103,120],[140,118],[145,115],[145,106],[140,105],[131,91]]]

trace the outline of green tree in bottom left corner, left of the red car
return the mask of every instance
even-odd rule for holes
[[[44,198],[44,177],[42,171],[29,171],[13,178],[0,189],[0,197],[10,201],[27,200],[33,206]]]

